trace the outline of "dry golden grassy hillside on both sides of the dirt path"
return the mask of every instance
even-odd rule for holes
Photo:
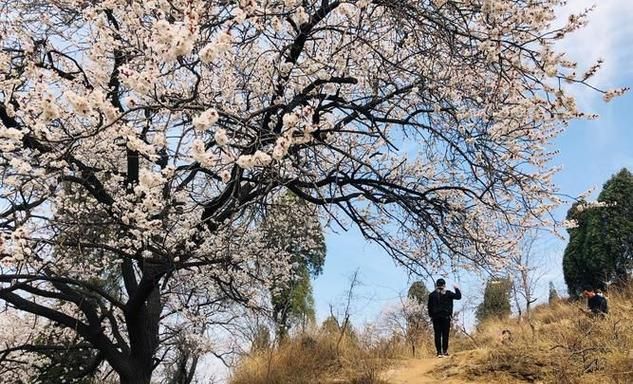
[[[468,337],[455,335],[454,355],[439,361],[429,373],[433,380],[420,378],[420,383],[447,378],[495,384],[633,383],[633,289],[611,292],[609,306],[609,316],[595,318],[583,311],[584,302],[561,301],[535,308],[529,321],[482,324]],[[416,358],[431,358],[431,335],[420,341]],[[341,338],[315,331],[243,358],[231,384],[388,384],[381,372],[402,369],[410,359],[410,346],[395,335]]]

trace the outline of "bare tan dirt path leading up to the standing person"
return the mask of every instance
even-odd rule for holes
[[[412,359],[400,367],[388,370],[384,373],[383,378],[389,384],[468,384],[468,382],[456,378],[441,378],[433,373],[440,364],[446,363],[450,363],[450,358],[448,360],[438,358]]]

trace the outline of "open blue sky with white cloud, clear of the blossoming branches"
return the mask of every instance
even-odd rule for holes
[[[567,9],[581,10],[591,7],[592,1],[569,0]],[[603,70],[594,83],[602,88],[633,86],[633,1],[600,0],[591,15],[590,24],[564,42],[560,49],[568,52],[580,68],[588,67],[603,58]],[[594,121],[574,121],[554,143],[560,150],[555,164],[563,169],[555,180],[561,193],[578,196],[595,187],[595,194],[602,184],[623,167],[633,170],[633,94],[628,93],[606,104],[602,98],[586,90],[578,90],[579,105],[586,112],[598,113]],[[568,206],[557,211],[564,217]],[[360,325],[376,319],[380,311],[397,301],[398,295],[408,288],[409,276],[397,267],[388,255],[365,240],[356,231],[328,233],[328,255],[323,275],[314,282],[317,318],[329,314],[330,305],[335,310],[344,303],[350,276],[359,271],[361,285],[351,313],[353,323]],[[541,279],[541,298],[546,297],[546,287],[553,281],[559,291],[565,291],[562,278],[562,252],[565,241],[545,237],[536,245],[542,256],[544,277]],[[447,276],[449,284],[457,282],[464,288],[470,300],[467,306],[477,303],[481,297],[483,282],[469,277]],[[466,322],[472,322],[467,316]]]

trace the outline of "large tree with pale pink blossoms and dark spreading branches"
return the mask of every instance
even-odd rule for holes
[[[122,383],[288,274],[253,224],[284,189],[411,269],[499,265],[597,69],[561,0],[0,3],[0,300]]]

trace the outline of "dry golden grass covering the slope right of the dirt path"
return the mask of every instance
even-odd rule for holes
[[[460,340],[469,351],[451,364],[464,377],[497,384],[633,383],[633,289],[612,292],[609,306],[604,319],[583,313],[583,303],[560,302],[536,308],[530,322],[484,324],[474,341]]]

